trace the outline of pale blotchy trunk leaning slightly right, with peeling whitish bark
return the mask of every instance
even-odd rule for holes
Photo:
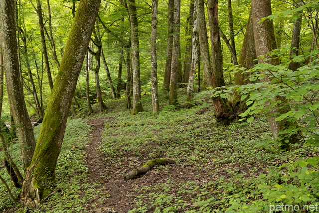
[[[199,45],[199,38],[198,38],[198,22],[196,18],[196,0],[194,3],[193,8],[193,30],[192,30],[192,53],[191,53],[191,64],[190,64],[190,71],[189,71],[189,78],[187,84],[187,102],[189,106],[193,105],[193,98],[194,98],[194,79],[196,74],[196,67],[198,61],[198,45]]]

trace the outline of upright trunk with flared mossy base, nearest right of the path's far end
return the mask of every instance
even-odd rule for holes
[[[141,81],[140,81],[140,43],[138,18],[136,13],[135,0],[128,0],[128,8],[131,23],[131,41],[132,41],[132,69],[133,69],[133,111],[137,114],[143,111],[141,100]]]

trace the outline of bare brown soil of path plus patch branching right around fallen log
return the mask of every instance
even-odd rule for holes
[[[135,198],[140,195],[138,189],[141,186],[152,187],[159,183],[164,183],[170,179],[175,182],[184,182],[196,179],[196,174],[202,173],[200,180],[205,181],[207,171],[197,171],[196,168],[186,167],[184,163],[172,164],[168,166],[155,167],[146,175],[133,180],[124,181],[124,175],[131,171],[133,167],[126,165],[112,165],[105,159],[107,156],[99,151],[102,144],[102,131],[104,129],[104,121],[112,119],[111,117],[93,118],[89,120],[89,124],[93,127],[91,140],[84,148],[86,152],[86,164],[89,170],[89,180],[91,183],[96,183],[96,190],[100,190],[105,194],[103,202],[91,201],[92,210],[96,213],[127,213],[134,208]],[[132,159],[128,156],[128,161],[136,162],[136,165],[143,165],[150,159],[139,160]],[[128,164],[128,162],[127,162]],[[194,180],[196,181],[196,180]],[[176,189],[178,191],[178,189]],[[94,206],[94,207],[93,207]]]

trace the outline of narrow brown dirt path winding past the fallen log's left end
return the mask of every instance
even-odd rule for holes
[[[119,168],[106,166],[106,156],[99,151],[102,144],[101,134],[106,119],[108,118],[89,120],[93,130],[90,133],[90,143],[84,148],[89,180],[91,183],[96,183],[95,188],[105,194],[105,197],[101,198],[100,201],[92,201],[92,206],[94,204],[98,207],[95,209],[97,213],[127,213],[132,209],[133,203],[132,197],[128,197],[130,192],[133,192],[131,184],[123,180],[123,173],[119,172]]]

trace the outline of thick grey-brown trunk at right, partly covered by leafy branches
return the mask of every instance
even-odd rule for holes
[[[260,22],[260,20],[264,17],[268,17],[272,14],[271,11],[271,1],[270,0],[252,0],[252,16],[253,16],[253,28],[254,28],[254,38],[255,38],[255,46],[256,46],[256,54],[257,57],[266,55],[270,51],[277,49],[276,39],[275,39],[275,31],[273,21],[270,19],[265,19]],[[270,59],[268,61],[264,61],[262,58],[258,58],[259,63],[270,63],[272,65],[279,65],[280,61],[278,57],[274,57],[271,55],[266,55],[266,59]],[[264,71],[266,73],[266,71]],[[262,82],[270,82],[271,76],[266,75],[265,78],[261,79]],[[275,114],[283,114],[290,110],[290,107],[286,100],[278,97],[280,99],[281,104],[278,105],[278,109],[272,109],[270,111],[271,115],[269,115],[269,123],[273,133],[273,137],[276,139],[279,136],[279,132],[289,127],[297,127],[297,121],[291,121],[287,119],[283,119],[282,121],[275,121]],[[269,102],[266,102],[266,106],[270,105]],[[289,144],[298,142],[300,140],[300,134],[295,133],[292,135],[281,135],[282,147],[281,148],[289,148]],[[285,140],[288,140],[287,143]]]

